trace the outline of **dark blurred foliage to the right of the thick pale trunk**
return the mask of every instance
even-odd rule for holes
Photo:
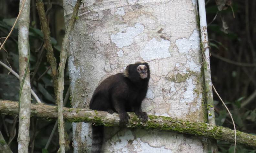
[[[206,5],[212,82],[231,111],[236,129],[250,134],[256,133],[255,8],[255,0],[210,0]],[[250,96],[254,97],[248,99]],[[214,100],[216,125],[233,129],[227,111],[215,94]],[[233,144],[227,142],[218,141],[217,145],[221,153],[234,150]],[[256,152],[242,146],[236,151]]]

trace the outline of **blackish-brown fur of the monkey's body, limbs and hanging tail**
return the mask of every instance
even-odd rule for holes
[[[140,65],[146,68],[142,70]],[[142,79],[141,76],[145,75],[147,77]],[[135,112],[142,121],[146,121],[147,113],[141,110],[141,103],[148,90],[149,78],[148,63],[136,62],[128,65],[124,73],[109,76],[101,82],[92,95],[90,109],[117,112],[122,125],[129,122],[127,112]],[[92,126],[92,139],[91,152],[101,152],[103,126]]]

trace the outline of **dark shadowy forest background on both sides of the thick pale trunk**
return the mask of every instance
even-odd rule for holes
[[[61,0],[43,0],[48,18],[51,42],[59,63],[59,53],[65,34]],[[217,2],[217,3],[216,3]],[[35,0],[31,0],[30,11],[30,78],[31,87],[44,102],[55,105],[50,65],[43,46]],[[19,10],[19,0],[0,0],[0,42],[11,30]],[[234,118],[236,129],[256,134],[256,0],[206,0],[208,37],[211,47],[212,83],[219,92]],[[255,16],[254,16],[255,15]],[[18,70],[17,25],[4,48],[0,60]],[[58,64],[57,64],[58,65]],[[8,75],[0,66],[0,99],[18,101],[19,81]],[[66,71],[67,72],[67,71]],[[65,73],[64,94],[69,87],[69,74]],[[216,124],[233,129],[232,121],[225,107],[214,93]],[[33,100],[33,102],[35,102]],[[70,107],[68,101],[66,107]],[[46,149],[55,120],[31,119],[30,152],[57,152],[58,132],[55,131]],[[66,123],[67,138],[72,152],[72,127]],[[17,117],[1,115],[0,130],[13,152],[17,152]],[[233,152],[233,144],[217,142],[219,152]],[[0,151],[1,152],[1,151]],[[256,150],[238,146],[238,153],[255,153]]]

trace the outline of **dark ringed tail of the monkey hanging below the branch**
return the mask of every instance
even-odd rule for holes
[[[104,137],[104,126],[92,125],[92,147],[91,153],[101,153],[101,147]]]

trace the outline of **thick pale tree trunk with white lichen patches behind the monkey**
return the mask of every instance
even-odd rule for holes
[[[74,0],[64,0],[65,20]],[[88,107],[97,85],[137,61],[151,79],[148,114],[204,121],[196,0],[87,0],[70,37],[73,107]],[[189,77],[187,78],[187,76]],[[200,138],[144,129],[106,128],[105,152],[206,152]],[[74,152],[90,150],[87,123],[73,123]]]

